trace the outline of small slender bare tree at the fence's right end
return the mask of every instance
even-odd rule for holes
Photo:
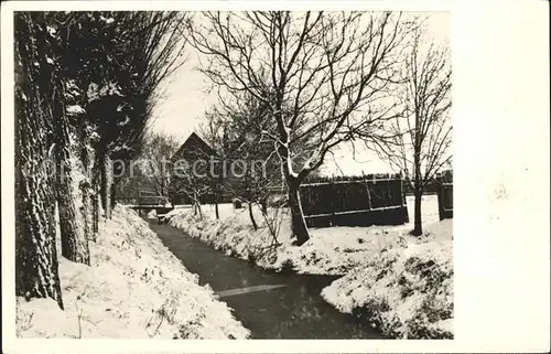
[[[413,42],[403,62],[404,82],[397,98],[402,114],[390,125],[393,139],[370,141],[380,155],[404,174],[414,193],[414,229],[423,233],[421,201],[428,183],[451,164],[452,68],[445,46],[423,40],[423,29],[413,32]]]

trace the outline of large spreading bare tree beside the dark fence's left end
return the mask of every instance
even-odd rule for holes
[[[253,96],[271,118],[263,135],[277,143],[299,245],[310,238],[300,184],[332,148],[388,119],[385,98],[413,25],[389,12],[310,11],[207,12],[193,23],[203,73],[237,99]],[[296,163],[302,139],[313,148]]]

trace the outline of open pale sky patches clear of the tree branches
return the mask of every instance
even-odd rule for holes
[[[450,41],[451,15],[449,12],[420,13],[429,17],[428,34],[436,42]],[[194,50],[190,49],[188,61],[174,73],[165,83],[165,97],[153,109],[154,131],[164,132],[181,139],[197,129],[203,120],[205,110],[214,103],[215,97],[206,93],[207,82],[203,74],[195,71],[198,58]],[[387,163],[380,161],[372,152],[359,144],[356,153],[349,144],[341,147],[329,155],[326,161],[324,174],[360,174],[392,172]]]

